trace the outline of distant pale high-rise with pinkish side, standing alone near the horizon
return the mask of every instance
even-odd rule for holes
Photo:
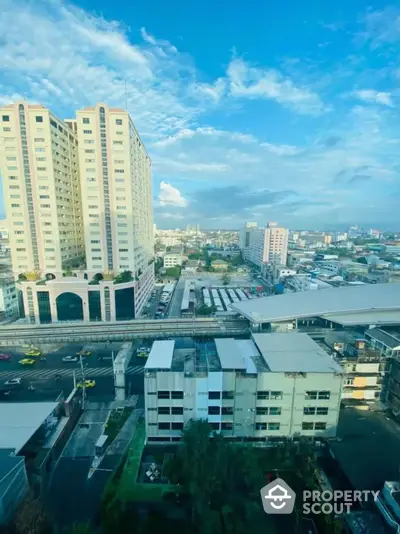
[[[241,248],[245,259],[258,267],[266,263],[286,265],[288,239],[288,229],[276,223],[268,223],[266,228],[247,223],[242,231]]]

